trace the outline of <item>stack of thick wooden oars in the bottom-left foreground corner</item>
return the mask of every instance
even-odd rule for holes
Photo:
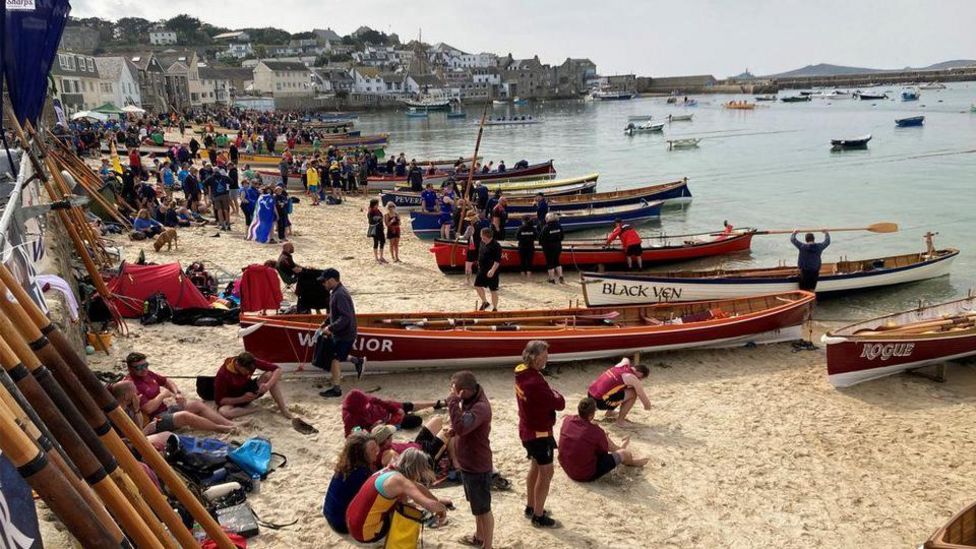
[[[222,549],[233,545],[67,338],[0,264],[0,450],[84,547],[195,547],[127,437]],[[114,429],[113,429],[114,427]],[[118,432],[116,431],[118,430]],[[121,466],[121,467],[120,467]]]

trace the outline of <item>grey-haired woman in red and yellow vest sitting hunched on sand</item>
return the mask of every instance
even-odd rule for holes
[[[376,543],[382,540],[389,533],[393,514],[404,512],[398,509],[398,503],[407,506],[406,512],[416,511],[409,506],[407,500],[427,509],[437,517],[438,524],[444,524],[447,510],[454,504],[451,500],[440,499],[430,492],[427,486],[433,481],[434,471],[430,467],[427,454],[416,448],[407,449],[390,467],[377,471],[366,479],[359,493],[349,503],[346,511],[349,535],[359,543]],[[418,536],[419,533],[418,529]],[[416,544],[416,540],[413,543]]]

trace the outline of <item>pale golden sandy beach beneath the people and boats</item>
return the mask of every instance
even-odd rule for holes
[[[470,310],[473,289],[463,276],[441,274],[429,243],[404,230],[403,264],[378,265],[366,238],[361,197],[339,206],[296,205],[295,258],[302,265],[335,267],[359,312]],[[243,240],[243,222],[214,238],[211,227],[180,230],[179,251],[156,253],[150,243],[117,239],[134,261],[206,260],[229,272],[277,257],[279,246]],[[571,273],[567,276],[572,280]],[[294,295],[286,292],[286,300]],[[552,286],[544,275],[529,282],[502,276],[502,309],[562,306],[582,299],[579,285]],[[816,337],[824,326],[816,325]],[[221,360],[242,348],[236,326],[143,327],[117,338],[111,355],[90,357],[96,370],[122,371],[122,358],[138,350],[157,372],[194,392],[193,377],[212,375]],[[948,383],[896,376],[838,391],[826,379],[822,349],[793,352],[790,345],[644,355],[651,367],[645,386],[650,411],[635,408],[629,429],[603,424],[611,438],[651,457],[641,470],[618,470],[593,484],[573,482],[559,470],[547,507],[562,523],[537,530],[522,516],[525,453],[517,432],[510,368],[476,374],[491,398],[495,466],[513,482],[494,493],[500,547],[911,547],[973,497],[976,455],[976,375],[969,366],[948,370]],[[550,383],[570,410],[612,361],[550,365]],[[512,365],[514,366],[514,364]],[[367,375],[345,389],[381,387],[379,395],[435,399],[449,390],[444,372]],[[271,474],[249,498],[266,521],[294,526],[262,529],[255,548],[333,547],[347,542],[328,528],[322,497],[342,444],[340,403],[318,396],[324,375],[286,378],[292,412],[319,433],[291,429],[273,404],[240,421],[223,436],[271,439],[288,465]],[[429,412],[428,412],[429,413]],[[399,433],[400,439],[413,433]],[[462,489],[438,490],[458,510],[443,528],[424,532],[426,547],[455,547],[473,531]],[[54,540],[49,541],[53,543]],[[52,544],[52,546],[54,546]]]

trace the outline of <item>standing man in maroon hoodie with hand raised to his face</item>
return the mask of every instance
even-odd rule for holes
[[[458,540],[464,545],[491,549],[495,518],[491,512],[492,454],[491,403],[474,374],[461,371],[451,376],[447,399],[464,496],[475,517],[474,535]]]

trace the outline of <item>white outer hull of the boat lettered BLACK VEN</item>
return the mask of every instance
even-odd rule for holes
[[[843,293],[919,282],[949,274],[958,255],[894,269],[825,274],[817,282],[817,295]],[[641,303],[729,299],[799,289],[799,275],[754,278],[685,278],[632,274],[583,273],[583,296],[590,307]]]

